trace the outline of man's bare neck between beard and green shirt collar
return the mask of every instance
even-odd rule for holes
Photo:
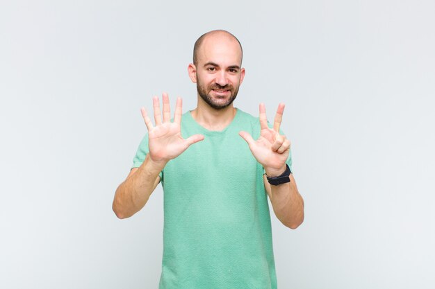
[[[198,96],[198,105],[195,110],[192,110],[192,118],[195,119],[199,125],[207,130],[224,130],[233,121],[236,116],[236,108],[233,104],[222,110],[215,110],[202,100],[201,96]]]

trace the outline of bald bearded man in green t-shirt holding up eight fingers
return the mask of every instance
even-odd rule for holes
[[[291,173],[290,141],[280,132],[284,104],[270,125],[233,106],[245,77],[243,49],[231,33],[213,30],[195,42],[188,74],[197,107],[182,114],[177,99],[153,98],[154,124],[142,116],[142,139],[113,211],[128,218],[159,182],[164,191],[160,289],[277,288],[268,200],[292,229],[304,201]]]

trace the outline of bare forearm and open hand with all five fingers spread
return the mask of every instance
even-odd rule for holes
[[[160,103],[153,98],[154,121],[142,107],[142,116],[148,129],[149,153],[139,168],[131,169],[129,175],[115,192],[113,211],[118,218],[129,218],[147,203],[149,196],[160,182],[158,174],[163,170],[167,161],[181,155],[190,145],[202,141],[204,136],[194,134],[187,139],[181,137],[181,98],[177,98],[174,121],[170,120],[170,103],[167,94],[163,94],[163,120]]]

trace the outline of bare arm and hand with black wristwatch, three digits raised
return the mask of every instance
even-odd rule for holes
[[[284,104],[278,106],[273,128],[269,128],[265,107],[260,105],[260,137],[255,141],[247,132],[240,132],[249,145],[256,160],[265,169],[266,175],[276,177],[286,170],[286,159],[290,153],[290,141],[279,134],[284,112]],[[268,192],[273,211],[277,218],[291,229],[299,227],[304,221],[304,200],[297,191],[295,178],[290,174],[290,182],[272,186],[264,176],[265,189]]]

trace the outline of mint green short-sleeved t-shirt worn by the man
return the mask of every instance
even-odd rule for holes
[[[246,141],[257,139],[258,118],[237,110],[222,131],[209,131],[190,112],[181,134],[204,134],[167,163],[160,289],[276,289],[272,231],[263,167]],[[133,167],[148,152],[144,137]],[[291,166],[291,157],[288,158]]]

